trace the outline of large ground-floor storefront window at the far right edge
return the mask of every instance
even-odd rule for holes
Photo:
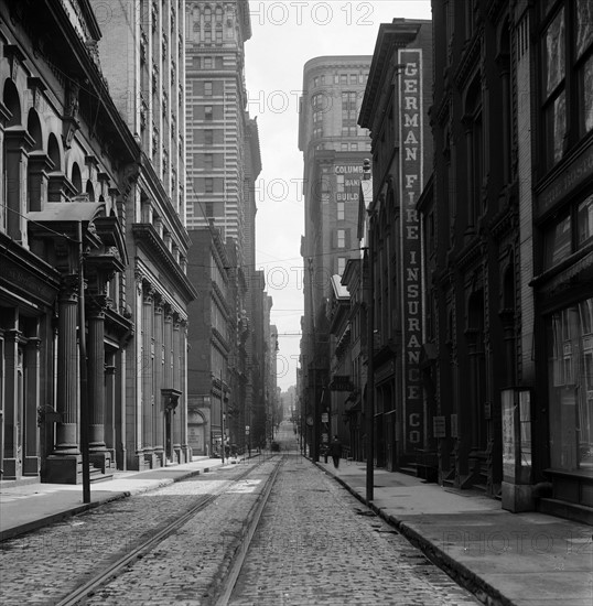
[[[593,476],[593,299],[552,314],[547,327],[551,466]]]

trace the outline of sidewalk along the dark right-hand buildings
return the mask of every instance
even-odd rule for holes
[[[331,459],[330,459],[331,461]],[[366,464],[319,467],[366,502]],[[375,469],[370,507],[486,604],[591,606],[593,528]],[[486,602],[489,598],[489,602]]]

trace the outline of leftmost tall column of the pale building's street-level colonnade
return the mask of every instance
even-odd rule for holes
[[[142,300],[142,442],[144,461],[152,468],[154,467],[153,436],[153,412],[154,407],[154,339],[152,311],[154,291],[145,284]]]

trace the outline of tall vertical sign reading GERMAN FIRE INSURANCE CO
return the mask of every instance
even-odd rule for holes
[[[420,219],[416,204],[422,193],[422,50],[400,48],[399,170],[401,226],[402,422],[405,453],[422,446],[424,431],[420,350],[422,346]]]

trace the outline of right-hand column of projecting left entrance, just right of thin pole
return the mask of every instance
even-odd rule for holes
[[[88,407],[88,450],[90,461],[105,473],[109,467],[105,445],[105,310],[107,297],[91,295],[87,305],[88,322],[88,394],[83,393],[80,405]]]

